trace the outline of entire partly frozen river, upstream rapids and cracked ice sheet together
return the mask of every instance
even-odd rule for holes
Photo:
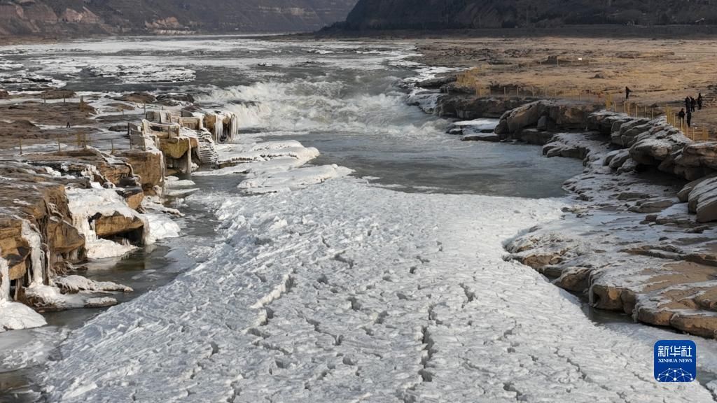
[[[14,368],[41,363],[32,399],[711,402],[706,381],[652,379],[652,343],[668,333],[592,321],[503,260],[505,240],[559,219],[581,163],[445,134],[450,122],[411,105],[406,80],[431,72],[412,53],[240,37],[0,48],[0,77],[88,96],[191,93],[238,113],[242,142],[298,140],[355,171],[260,196],[199,177],[205,191],[187,203],[216,214],[212,242],[165,246],[201,262],[72,330],[13,343]],[[712,370],[713,343],[699,343]]]

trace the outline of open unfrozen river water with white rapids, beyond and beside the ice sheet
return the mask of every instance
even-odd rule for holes
[[[346,166],[396,191],[561,197],[563,181],[582,168],[579,161],[543,158],[538,147],[462,143],[447,135],[449,121],[409,103],[406,80],[429,70],[407,60],[413,50],[404,42],[136,38],[6,47],[0,54],[11,62],[0,72],[0,82],[11,90],[32,90],[37,80],[9,83],[8,77],[34,75],[82,91],[100,105],[111,102],[106,93],[189,93],[204,108],[239,114],[242,142],[298,140],[322,153],[315,163]],[[239,197],[240,178],[195,180],[201,192]],[[214,214],[198,204],[177,203],[187,214],[180,240],[119,261],[91,263],[87,276],[130,285],[135,293],[118,298],[126,301],[205,259],[215,242]],[[47,319],[60,328],[78,328],[100,312],[72,310]],[[0,374],[0,389],[29,384],[37,391],[39,385],[32,384],[37,371],[42,366]],[[0,399],[8,401],[37,398],[14,395],[0,390]]]

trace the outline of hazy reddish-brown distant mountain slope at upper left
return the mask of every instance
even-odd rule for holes
[[[0,0],[0,36],[314,31],[356,0]]]

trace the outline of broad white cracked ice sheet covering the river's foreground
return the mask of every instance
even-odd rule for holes
[[[650,346],[594,325],[502,242],[554,200],[405,194],[336,179],[192,196],[212,258],[70,335],[52,402],[708,402]]]

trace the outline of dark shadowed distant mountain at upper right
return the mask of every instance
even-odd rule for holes
[[[714,0],[359,0],[346,29],[717,24]]]

